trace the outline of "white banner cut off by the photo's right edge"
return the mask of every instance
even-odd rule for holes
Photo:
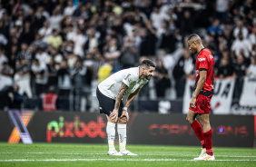
[[[256,106],[256,78],[245,77],[241,92],[240,105]]]

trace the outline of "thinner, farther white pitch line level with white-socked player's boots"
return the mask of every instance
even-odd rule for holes
[[[61,154],[61,155],[106,155],[106,153],[72,153],[72,152],[0,152],[0,154]],[[197,156],[197,154],[190,154],[190,155],[183,155],[183,154],[139,154],[141,156],[185,156],[185,157],[191,157],[191,156]],[[255,156],[231,156],[231,155],[222,155],[218,154],[215,155],[215,157],[230,157],[230,158],[256,158]]]

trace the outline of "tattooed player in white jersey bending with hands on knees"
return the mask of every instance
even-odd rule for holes
[[[108,155],[137,155],[126,150],[126,124],[129,121],[127,108],[139,93],[140,89],[153,76],[155,64],[151,60],[143,60],[138,67],[128,68],[112,74],[97,87],[97,98],[100,113],[107,117],[106,133],[108,136]],[[123,105],[124,97],[127,97]],[[115,123],[119,136],[119,152],[114,148]]]

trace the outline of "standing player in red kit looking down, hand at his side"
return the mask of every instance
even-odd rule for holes
[[[212,53],[203,47],[198,34],[189,36],[188,45],[193,54],[198,54],[195,65],[195,91],[186,118],[202,143],[202,152],[194,160],[215,160],[212,152],[212,128],[209,119],[210,101],[213,95],[214,59]],[[199,115],[202,125],[195,119],[197,115]]]

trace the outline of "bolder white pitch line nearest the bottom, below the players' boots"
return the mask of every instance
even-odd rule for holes
[[[49,159],[49,160],[0,160],[0,162],[94,162],[94,161],[107,161],[107,162],[194,162],[194,160],[177,160],[177,159]],[[255,162],[256,160],[215,160],[215,162]]]

